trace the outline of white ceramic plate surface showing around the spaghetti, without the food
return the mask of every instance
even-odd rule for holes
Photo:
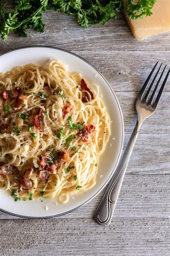
[[[15,202],[10,194],[0,192],[0,209],[12,215],[28,217],[28,218],[48,218],[59,216],[82,206],[93,199],[112,177],[115,168],[119,162],[123,147],[123,116],[121,107],[108,81],[95,69],[90,63],[66,50],[52,47],[27,47],[16,49],[0,56],[0,72],[7,72],[14,66],[25,65],[28,63],[36,63],[43,65],[49,58],[58,59],[71,72],[80,72],[88,81],[93,81],[100,86],[100,92],[103,94],[103,101],[110,114],[111,131],[110,140],[100,157],[98,163],[98,174],[96,177],[96,185],[87,190],[80,191],[70,198],[67,204],[60,204],[56,199],[43,199],[34,201],[18,201]],[[110,144],[112,146],[110,146]],[[57,202],[57,204],[56,204]],[[48,210],[46,210],[46,206]]]

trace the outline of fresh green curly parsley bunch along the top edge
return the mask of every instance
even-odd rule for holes
[[[150,16],[156,0],[126,1],[126,13],[132,18]],[[14,3],[14,9],[7,11],[8,4]],[[6,40],[10,31],[19,36],[27,36],[27,29],[44,31],[42,14],[48,9],[75,15],[82,27],[105,24],[110,18],[118,18],[117,13],[123,9],[124,0],[0,0],[0,34]]]

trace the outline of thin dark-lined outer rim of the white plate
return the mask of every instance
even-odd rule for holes
[[[120,150],[120,152],[119,152],[118,160],[117,160],[117,162],[116,162],[116,164],[115,164],[115,167],[114,167],[114,169],[113,169],[111,175],[109,176],[108,180],[105,182],[105,184],[99,189],[99,191],[98,191],[97,193],[95,193],[95,194],[93,195],[93,197],[91,197],[90,199],[88,199],[86,202],[82,203],[80,206],[78,206],[78,207],[76,207],[76,208],[74,208],[74,209],[71,209],[70,211],[67,211],[67,212],[64,212],[64,213],[60,213],[60,214],[56,214],[56,215],[52,215],[52,216],[44,216],[44,217],[23,216],[23,215],[18,215],[18,214],[11,213],[11,212],[5,211],[5,210],[3,210],[3,209],[0,209],[0,211],[2,211],[2,212],[8,213],[8,214],[13,215],[13,216],[16,216],[16,217],[22,217],[22,218],[25,218],[25,219],[49,219],[49,218],[54,218],[54,217],[62,216],[62,215],[65,215],[65,214],[67,214],[67,213],[73,212],[73,211],[75,211],[76,209],[80,208],[81,206],[87,204],[87,203],[90,202],[93,198],[95,198],[96,195],[98,195],[98,194],[104,189],[104,187],[108,184],[108,182],[111,180],[112,176],[114,175],[114,172],[115,172],[115,170],[116,170],[116,168],[117,168],[117,166],[118,166],[119,160],[120,160],[121,155],[122,155],[123,142],[124,142],[124,121],[123,121],[123,114],[122,114],[122,110],[121,110],[121,106],[120,106],[120,104],[119,104],[118,98],[117,98],[117,96],[116,96],[116,94],[115,94],[113,88],[111,87],[110,83],[108,82],[108,80],[101,74],[101,72],[100,72],[98,69],[96,69],[95,66],[93,66],[90,62],[86,61],[86,59],[80,57],[79,55],[77,55],[77,54],[75,54],[75,53],[72,53],[72,52],[70,52],[70,51],[68,51],[68,50],[65,50],[65,49],[62,49],[62,48],[58,48],[58,47],[52,47],[52,46],[46,46],[46,45],[45,45],[45,46],[43,46],[43,45],[33,45],[33,46],[25,46],[25,47],[19,47],[19,48],[15,48],[15,49],[13,49],[13,50],[9,50],[9,51],[6,51],[6,52],[0,54],[0,56],[5,55],[6,53],[10,53],[10,52],[14,52],[14,51],[16,51],[16,50],[26,49],[26,48],[52,48],[52,49],[55,49],[55,50],[61,50],[61,51],[63,51],[63,52],[72,54],[72,55],[74,55],[74,56],[76,56],[76,57],[82,59],[82,61],[86,62],[86,63],[89,64],[91,67],[93,67],[93,69],[95,69],[95,70],[99,73],[99,75],[102,76],[102,78],[106,81],[107,85],[110,87],[110,89],[111,89],[111,91],[112,91],[112,93],[113,93],[113,95],[114,95],[114,97],[115,97],[115,100],[116,100],[116,102],[117,102],[117,104],[118,104],[119,111],[120,111],[120,115],[121,115],[121,122],[122,122],[122,142],[121,142],[121,150]]]

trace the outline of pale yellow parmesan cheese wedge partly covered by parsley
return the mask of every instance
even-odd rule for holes
[[[124,16],[137,40],[170,31],[170,0],[157,0],[152,15],[143,19],[130,19],[125,12]]]

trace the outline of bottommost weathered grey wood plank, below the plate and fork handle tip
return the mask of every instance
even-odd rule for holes
[[[168,234],[166,218],[120,216],[110,226],[84,218],[6,220],[1,250],[2,255],[168,255]]]

